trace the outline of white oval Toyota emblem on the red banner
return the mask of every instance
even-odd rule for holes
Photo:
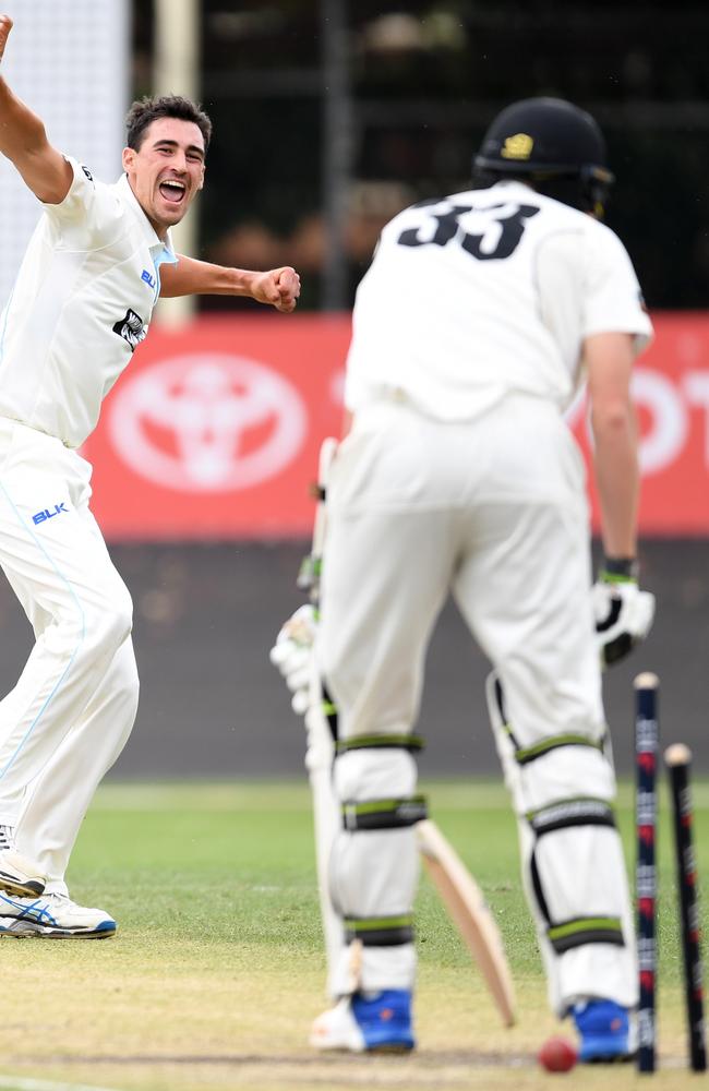
[[[308,427],[296,387],[266,363],[223,352],[130,372],[108,430],[134,473],[178,492],[230,492],[279,473]]]

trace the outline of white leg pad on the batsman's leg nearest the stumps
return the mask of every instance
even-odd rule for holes
[[[525,890],[534,916],[548,976],[549,997],[560,1016],[579,998],[601,996],[625,1007],[637,1003],[633,912],[623,849],[612,826],[563,825],[537,832],[530,816],[543,812],[568,818],[574,801],[603,813],[615,798],[615,775],[606,754],[585,746],[561,746],[526,765],[515,748],[496,700],[495,678],[488,680],[488,705],[497,751],[519,828]],[[596,920],[594,930],[590,923]],[[624,945],[591,940],[603,922],[620,921]],[[568,926],[579,942],[562,950],[557,927]],[[588,922],[588,923],[587,923]],[[551,926],[551,932],[550,932]],[[551,937],[551,938],[550,938]],[[552,939],[554,942],[552,942]],[[572,940],[573,943],[573,940]]]

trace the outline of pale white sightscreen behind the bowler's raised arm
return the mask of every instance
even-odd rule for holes
[[[43,119],[55,147],[96,178],[118,178],[130,105],[129,0],[2,0],[1,10],[14,23],[2,61],[13,92]],[[0,155],[0,310],[39,208]]]

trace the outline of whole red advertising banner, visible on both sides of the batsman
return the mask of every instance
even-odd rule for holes
[[[709,535],[709,317],[653,321],[634,376],[641,530]],[[349,314],[154,326],[83,451],[107,539],[308,537],[320,443],[339,434],[349,335]],[[569,422],[588,453],[582,406]]]

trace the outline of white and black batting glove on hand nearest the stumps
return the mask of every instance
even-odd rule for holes
[[[602,666],[618,663],[644,640],[654,620],[654,595],[641,591],[637,562],[606,558],[592,589]]]

